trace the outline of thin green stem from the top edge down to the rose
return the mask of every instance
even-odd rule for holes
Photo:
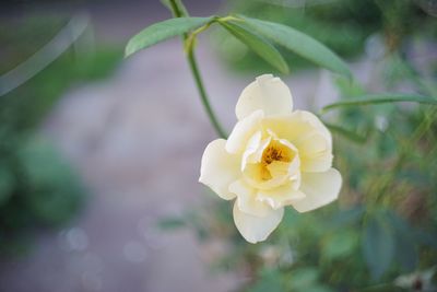
[[[184,16],[184,12],[182,12],[184,8],[178,5],[179,4],[178,1],[169,0],[169,2],[170,2],[170,8],[172,8],[172,11],[173,11],[173,14],[175,15],[175,17]],[[196,35],[193,37],[196,37]],[[191,69],[191,73],[194,78],[196,85],[199,91],[200,100],[202,101],[202,104],[208,114],[208,117],[210,118],[210,121],[211,121],[212,126],[214,127],[215,131],[217,132],[217,135],[221,138],[226,139],[227,135],[223,130],[217,118],[215,117],[214,110],[212,109],[211,104],[210,104],[210,100],[208,98],[206,91],[203,86],[202,77],[200,75],[198,62],[196,61],[194,48],[192,45],[193,42],[194,42],[193,38],[189,37],[187,34],[184,34],[184,45],[187,49],[187,59],[188,59],[188,63]]]

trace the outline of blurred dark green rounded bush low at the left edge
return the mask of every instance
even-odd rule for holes
[[[23,135],[2,144],[0,165],[0,254],[25,252],[36,227],[60,226],[83,206],[79,176],[40,136]]]

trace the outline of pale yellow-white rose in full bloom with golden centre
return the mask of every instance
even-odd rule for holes
[[[271,74],[241,93],[227,140],[212,141],[199,182],[234,203],[234,221],[250,243],[264,241],[284,207],[307,212],[332,202],[342,184],[332,168],[332,138],[311,113],[293,112],[288,87]]]

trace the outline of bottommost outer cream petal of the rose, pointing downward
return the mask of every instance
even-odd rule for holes
[[[249,243],[265,241],[272,231],[280,224],[284,215],[284,208],[271,210],[265,217],[256,217],[243,212],[234,203],[234,222],[239,233]]]

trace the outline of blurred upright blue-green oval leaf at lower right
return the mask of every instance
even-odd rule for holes
[[[393,231],[382,218],[369,218],[364,229],[362,248],[374,279],[379,279],[390,267],[394,256]]]

